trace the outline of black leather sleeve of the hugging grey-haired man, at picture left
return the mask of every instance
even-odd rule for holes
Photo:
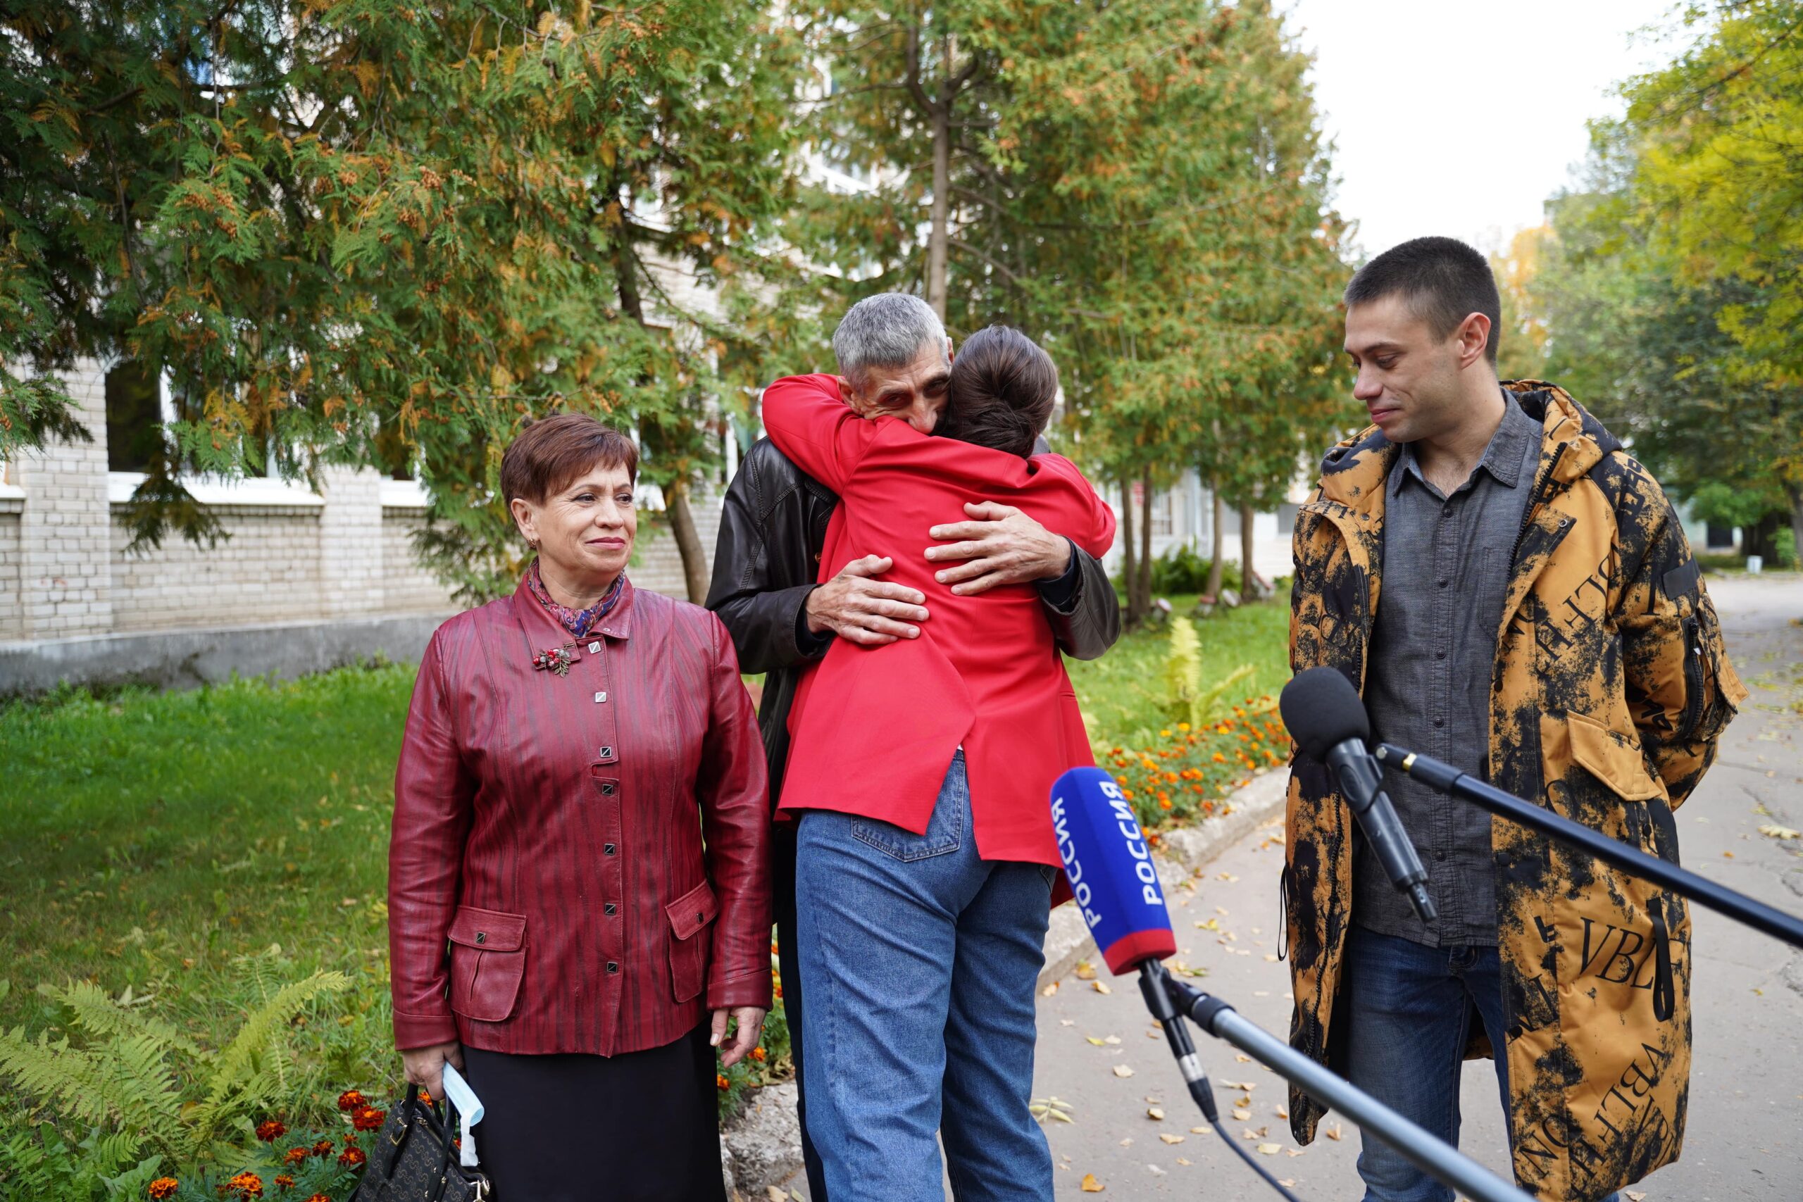
[[[801,640],[801,613],[811,580],[788,587],[777,584],[761,521],[759,472],[750,456],[727,485],[719,512],[719,537],[714,542],[714,580],[707,589],[707,607],[719,615],[739,652],[739,670],[770,672],[810,663],[826,654],[831,640]]]

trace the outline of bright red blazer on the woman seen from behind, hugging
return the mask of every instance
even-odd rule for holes
[[[804,472],[840,496],[820,580],[860,555],[891,555],[889,580],[927,595],[918,640],[833,640],[790,712],[793,750],[781,809],[837,809],[925,833],[963,744],[977,851],[1057,865],[1048,798],[1066,768],[1093,764],[1071,678],[1030,584],[956,596],[932,578],[927,530],[966,501],[1001,501],[1091,555],[1114,542],[1114,512],[1057,454],[1030,460],[867,422],[829,375],[764,389],[764,427]]]

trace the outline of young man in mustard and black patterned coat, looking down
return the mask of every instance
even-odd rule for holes
[[[1291,667],[1359,687],[1374,737],[1675,861],[1671,811],[1745,697],[1671,503],[1565,391],[1496,378],[1489,265],[1403,243],[1347,288],[1374,425],[1296,515]],[[1439,908],[1390,890],[1329,769],[1298,757],[1284,870],[1291,1043],[1442,1139],[1491,1054],[1515,1177],[1597,1202],[1677,1159],[1689,1081],[1682,897],[1406,779]],[[1291,1092],[1291,1128],[1322,1108]],[[1367,1139],[1367,1198],[1451,1191]]]

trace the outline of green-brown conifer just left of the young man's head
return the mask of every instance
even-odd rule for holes
[[[1271,503],[1345,418],[1341,223],[1307,59],[1268,4],[1066,20],[1062,54],[1015,63],[995,148],[1008,272],[1064,369],[1073,449],[1147,503],[1183,467]],[[1129,616],[1150,604],[1149,515]]]

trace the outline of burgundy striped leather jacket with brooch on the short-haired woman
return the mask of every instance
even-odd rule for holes
[[[426,649],[388,849],[398,1047],[613,1056],[770,1006],[764,750],[727,627],[627,580],[568,676],[532,667],[566,642],[521,584]]]

